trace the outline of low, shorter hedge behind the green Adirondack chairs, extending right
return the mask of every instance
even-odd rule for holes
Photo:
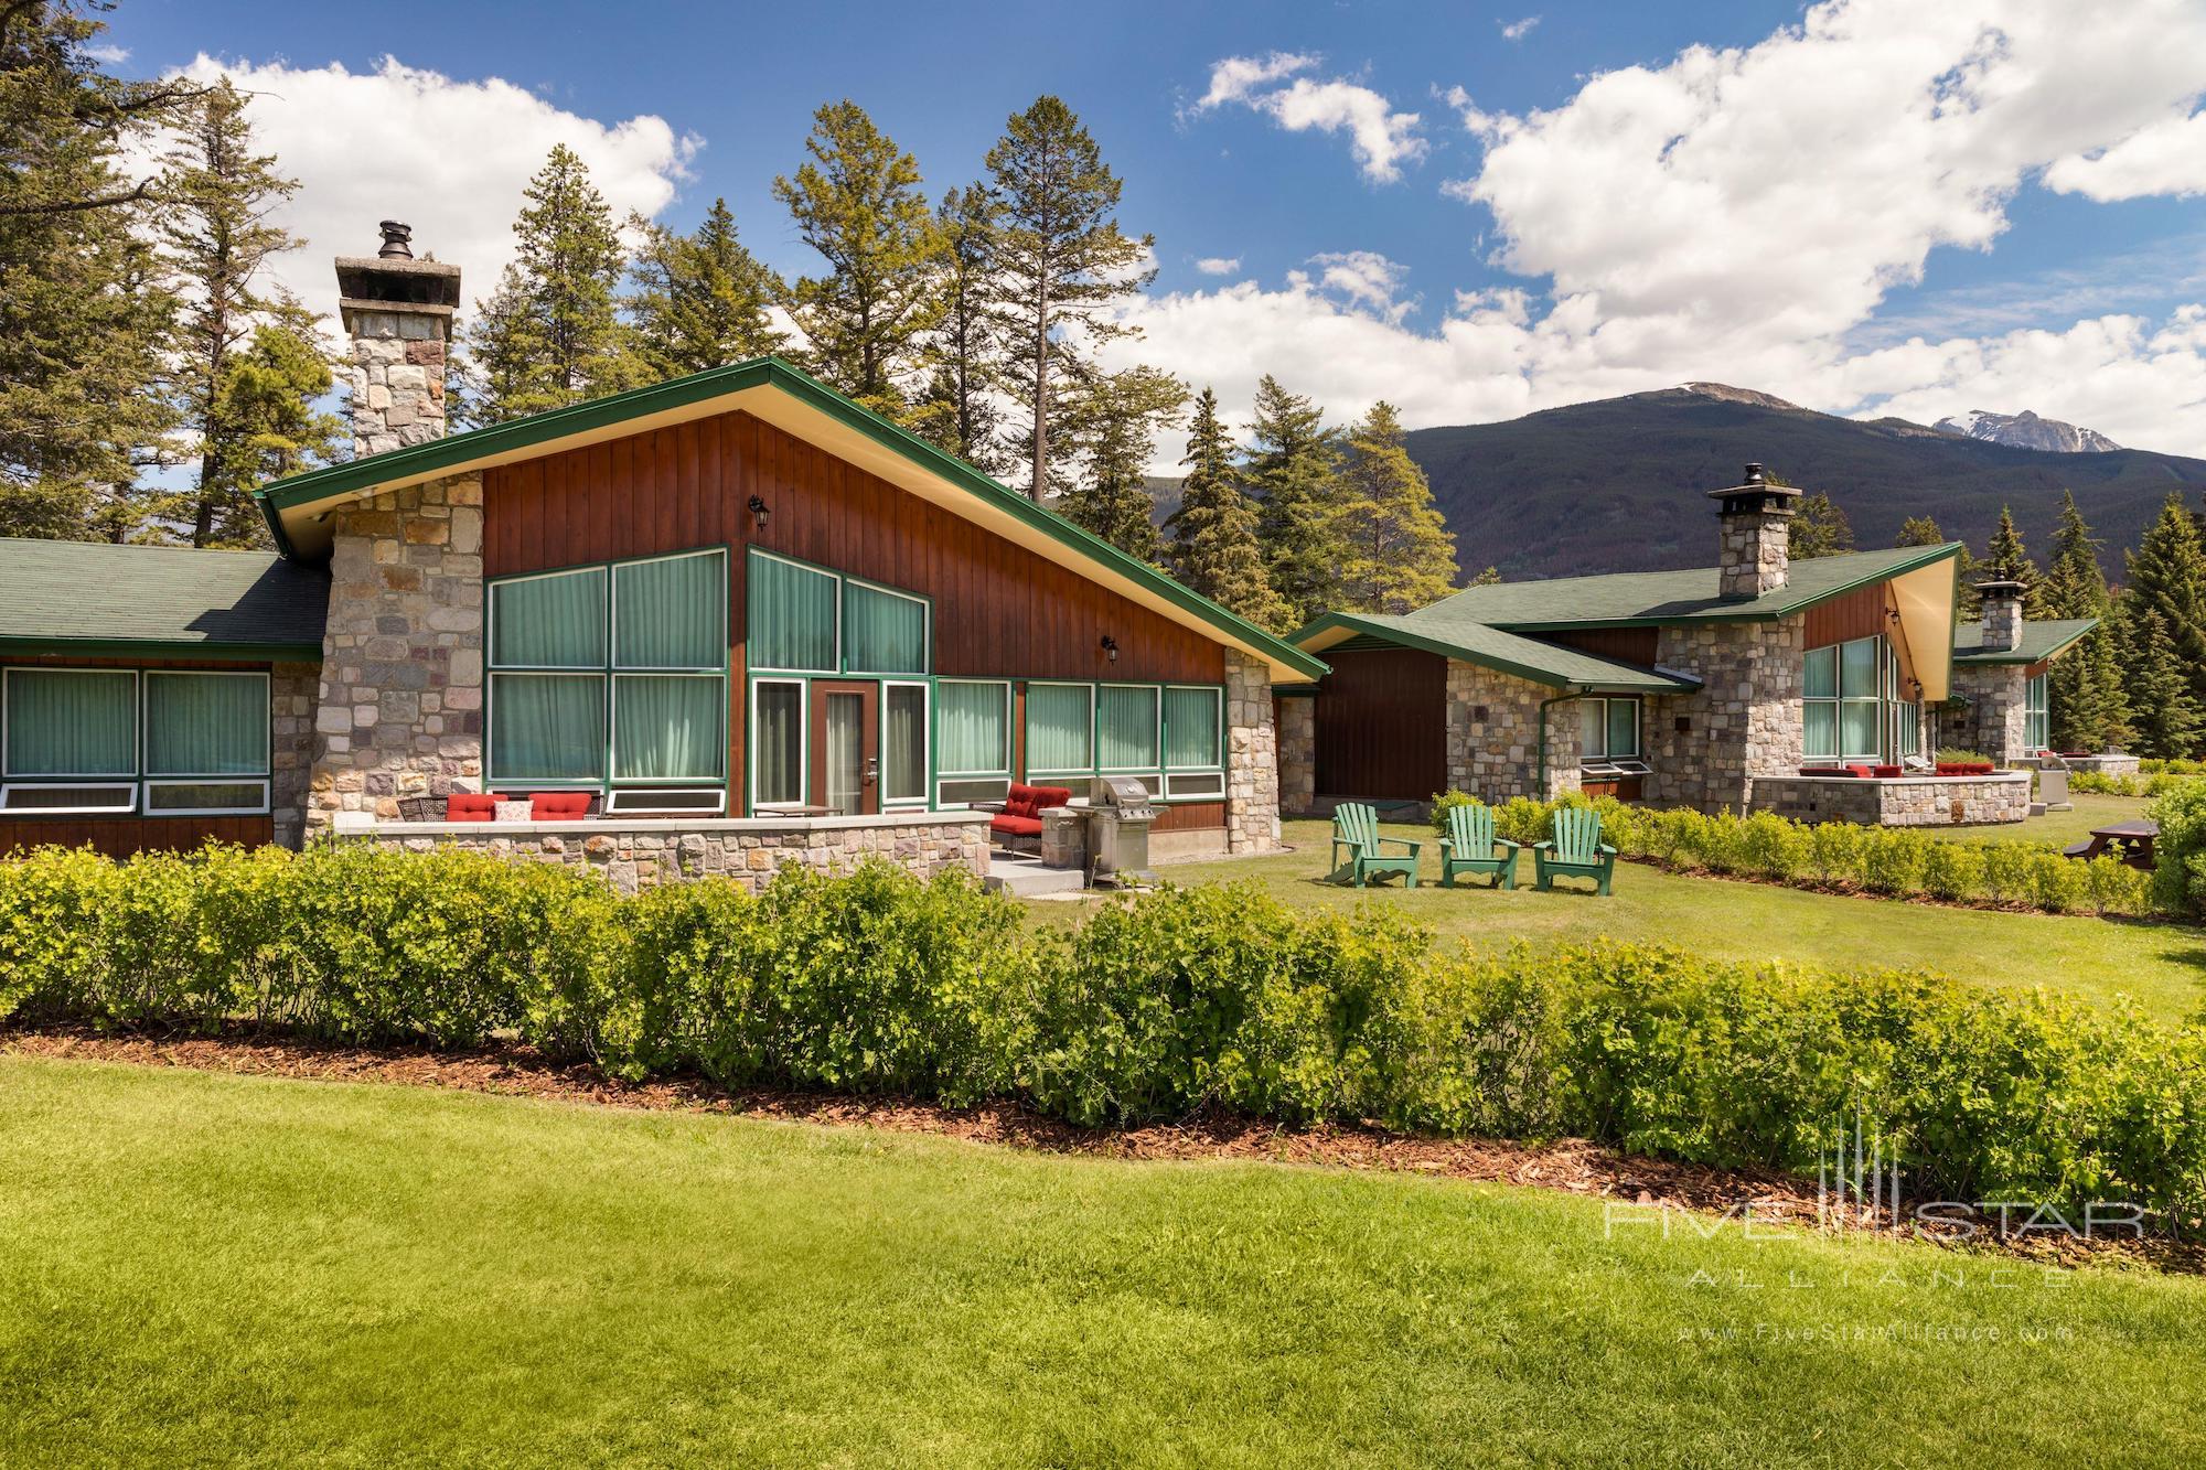
[[[1441,795],[1434,825],[1445,830],[1445,808],[1460,801],[1469,797]],[[1593,806],[1602,814],[1604,841],[1624,856],[1666,867],[2052,914],[2146,914],[2153,907],[2151,874],[2113,856],[2082,863],[2052,843],[1955,843],[1913,828],[1807,823],[1774,812],[1710,817],[1579,795],[1560,801],[1516,797],[1493,808],[1493,830],[1520,843],[1540,841],[1562,806]]]

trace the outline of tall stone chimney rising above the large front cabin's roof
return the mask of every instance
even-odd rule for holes
[[[413,225],[382,223],[375,256],[338,256],[338,311],[353,338],[353,455],[443,437],[443,358],[459,267],[413,258]]]

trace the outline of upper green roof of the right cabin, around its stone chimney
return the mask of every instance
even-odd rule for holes
[[[1791,563],[1782,587],[1752,600],[1725,598],[1716,567],[1491,583],[1465,587],[1432,607],[1407,614],[1407,618],[1485,622],[1516,631],[1785,618],[1902,572],[1959,556],[1959,552],[1961,543],[1950,541],[1946,545],[1904,545],[1888,552],[1811,556]]]

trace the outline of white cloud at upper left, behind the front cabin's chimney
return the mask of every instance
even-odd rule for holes
[[[615,216],[664,210],[699,146],[675,137],[662,117],[607,126],[499,77],[459,82],[395,57],[360,75],[338,64],[225,64],[207,55],[183,71],[203,82],[227,73],[249,93],[256,143],[300,181],[276,219],[307,245],[280,256],[276,274],[331,318],[331,258],[375,254],[382,219],[415,227],[415,254],[435,252],[465,269],[465,311],[490,296],[512,258],[521,190],[554,143],[582,155]]]

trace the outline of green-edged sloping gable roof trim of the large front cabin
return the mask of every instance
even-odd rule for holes
[[[428,439],[408,448],[390,450],[384,455],[368,455],[366,459],[353,459],[346,464],[324,466],[320,470],[309,470],[307,475],[293,475],[291,479],[280,479],[271,486],[254,490],[254,499],[260,503],[260,514],[267,519],[276,543],[289,550],[289,534],[282,525],[282,512],[300,505],[311,505],[318,501],[331,501],[346,494],[360,494],[375,490],[377,486],[390,481],[410,481],[432,477],[439,470],[457,468],[470,461],[490,459],[496,455],[514,455],[516,450],[543,448],[554,452],[560,441],[576,435],[596,433],[629,419],[642,419],[660,413],[671,413],[688,404],[702,404],[715,397],[728,397],[746,388],[772,386],[779,388],[810,408],[816,408],[847,428],[869,437],[874,444],[904,457],[918,468],[975,494],[997,510],[1013,514],[1024,521],[1030,530],[1057,541],[1065,550],[1085,556],[1088,561],[1101,563],[1103,567],[1125,576],[1145,589],[1163,596],[1182,611],[1193,614],[1213,629],[1227,633],[1229,640],[1242,642],[1260,656],[1293,669],[1304,678],[1317,678],[1326,673],[1326,664],[1310,653],[1293,647],[1284,638],[1264,631],[1255,622],[1227,611],[1218,603],[1204,598],[1189,587],[1171,580],[1156,567],[1134,556],[1127,556],[1112,543],[1094,536],[1072,521],[1065,521],[1054,510],[1030,501],[1028,497],[1010,490],[966,461],[942,452],[933,444],[920,439],[918,435],[898,428],[889,419],[860,408],[852,400],[843,397],[816,377],[799,371],[796,366],[783,362],[781,358],[752,358],[750,362],[735,362],[728,366],[710,369],[704,373],[690,373],[688,377],[675,377],[671,382],[653,384],[649,388],[633,388],[629,393],[615,393],[611,397],[598,397],[587,404],[571,404],[567,408],[552,408],[547,413],[536,413],[525,419],[512,419],[507,424],[492,424],[488,428],[474,428],[463,435],[448,435],[443,439]]]

